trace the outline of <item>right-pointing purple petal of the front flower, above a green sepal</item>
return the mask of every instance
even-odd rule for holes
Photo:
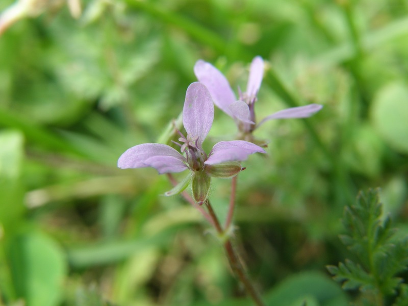
[[[224,162],[244,161],[248,158],[248,155],[256,152],[266,153],[263,148],[248,141],[221,141],[213,146],[208,159],[204,163],[215,165]]]

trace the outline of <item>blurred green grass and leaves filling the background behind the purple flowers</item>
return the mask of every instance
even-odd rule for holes
[[[3,0],[3,11],[13,2]],[[119,170],[179,116],[195,61],[246,87],[268,62],[238,178],[237,245],[270,305],[346,305],[325,266],[358,190],[408,231],[408,2],[39,1],[0,36],[0,305],[250,305],[209,225],[154,169]],[[236,127],[216,109],[207,144]],[[230,181],[211,198],[226,214]],[[404,233],[405,233],[404,232]],[[109,301],[109,303],[108,303]]]

